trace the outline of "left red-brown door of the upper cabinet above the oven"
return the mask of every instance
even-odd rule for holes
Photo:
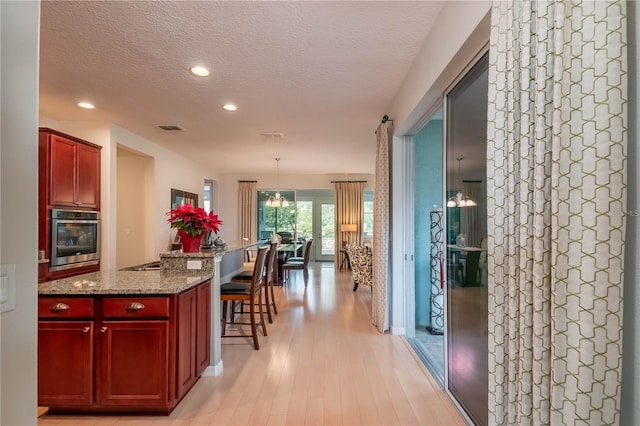
[[[75,206],[76,149],[78,144],[51,135],[50,203],[56,206]]]

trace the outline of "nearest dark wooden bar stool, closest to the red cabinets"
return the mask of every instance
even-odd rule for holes
[[[251,336],[253,338],[253,347],[255,350],[260,349],[260,343],[258,342],[258,327],[262,328],[262,334],[267,335],[267,327],[264,322],[264,312],[262,309],[262,291],[265,283],[265,262],[267,259],[268,247],[261,247],[258,249],[256,255],[256,263],[253,268],[253,275],[250,283],[225,283],[220,286],[220,300],[222,301],[222,337],[247,337],[246,335],[239,334],[227,334],[227,312],[230,302],[240,302],[240,304],[249,305],[249,322],[237,322],[235,321],[236,312],[231,310],[231,322],[234,325],[250,325]],[[256,306],[258,312],[256,313]],[[256,315],[259,319],[256,320]]]

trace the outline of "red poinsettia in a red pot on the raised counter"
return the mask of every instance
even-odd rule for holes
[[[201,207],[183,204],[167,212],[171,228],[178,230],[182,251],[193,253],[200,250],[200,241],[205,231],[218,233],[222,221],[212,211],[207,213]]]

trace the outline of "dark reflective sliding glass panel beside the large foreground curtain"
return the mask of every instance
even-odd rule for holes
[[[488,420],[486,158],[488,55],[446,95],[447,387]]]

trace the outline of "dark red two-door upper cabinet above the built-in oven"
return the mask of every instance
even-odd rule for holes
[[[47,193],[46,205],[100,209],[101,148],[55,130],[40,129],[40,189]]]

